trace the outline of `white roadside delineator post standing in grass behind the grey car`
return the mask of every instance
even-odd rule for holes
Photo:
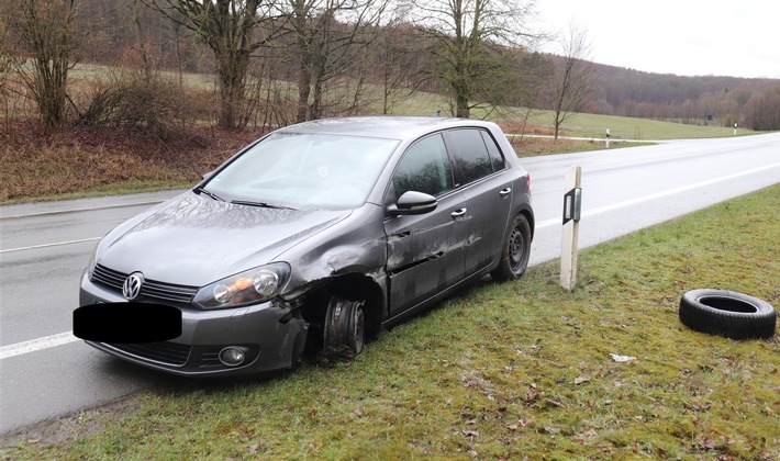
[[[566,171],[564,194],[564,233],[560,251],[560,285],[568,291],[577,284],[577,254],[580,211],[582,205],[582,167],[571,167]]]

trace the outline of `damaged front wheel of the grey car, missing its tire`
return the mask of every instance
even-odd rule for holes
[[[325,351],[341,352],[345,349],[358,355],[366,342],[366,315],[364,301],[348,301],[332,296],[325,313],[323,340]]]

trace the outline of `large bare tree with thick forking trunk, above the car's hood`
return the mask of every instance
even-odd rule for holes
[[[261,27],[272,21],[264,0],[144,0],[148,5],[190,29],[214,53],[220,87],[219,125],[237,126],[244,104],[245,80],[252,54],[269,43]]]

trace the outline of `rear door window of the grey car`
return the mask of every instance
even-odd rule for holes
[[[457,185],[468,184],[493,172],[494,159],[491,159],[486,139],[480,130],[453,130],[447,133],[452,147],[453,170]],[[495,144],[490,139],[493,144]],[[500,153],[497,153],[500,156]],[[503,161],[503,160],[502,160]]]

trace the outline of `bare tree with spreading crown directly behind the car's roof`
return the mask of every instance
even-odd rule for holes
[[[416,24],[432,40],[435,69],[455,99],[455,115],[468,117],[478,95],[501,94],[495,76],[505,72],[503,47],[535,38],[526,29],[533,0],[431,0],[415,4]]]

